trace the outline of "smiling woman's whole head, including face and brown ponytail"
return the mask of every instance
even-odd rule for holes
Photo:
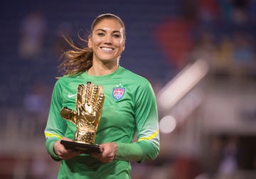
[[[92,67],[92,58],[94,58],[94,67],[97,66],[96,63],[100,63],[99,60],[101,58],[97,58],[97,55],[101,55],[104,51],[113,51],[111,53],[113,56],[111,62],[114,67],[117,67],[120,55],[124,51],[125,39],[125,26],[121,18],[111,13],[97,16],[95,21],[92,22],[88,41],[82,39],[87,42],[87,47],[78,48],[73,44],[72,40],[65,38],[73,50],[68,50],[63,54],[64,60],[59,65],[59,71],[63,72],[63,75],[76,75],[80,72],[85,72]],[[97,48],[100,49],[97,50]],[[110,54],[108,55],[111,58]],[[101,63],[104,63],[104,61]],[[107,67],[112,67],[112,65],[109,64]]]

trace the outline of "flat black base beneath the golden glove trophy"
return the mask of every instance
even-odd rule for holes
[[[78,143],[73,141],[60,141],[65,148],[74,150],[74,151],[80,151],[80,153],[101,153],[100,146],[99,145],[90,145],[85,143]]]

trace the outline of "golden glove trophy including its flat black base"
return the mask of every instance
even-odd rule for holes
[[[67,107],[60,110],[63,119],[73,122],[77,128],[74,141],[60,141],[65,148],[80,153],[100,153],[100,146],[94,143],[104,99],[102,86],[92,85],[92,82],[78,85],[76,111]]]

